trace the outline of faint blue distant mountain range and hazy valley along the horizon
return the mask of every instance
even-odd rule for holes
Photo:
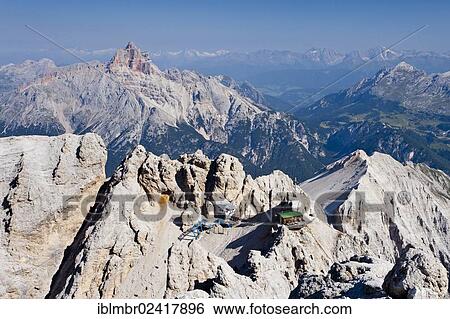
[[[299,103],[306,106],[314,102],[313,98],[347,88],[402,61],[426,72],[450,70],[450,53],[400,51],[384,47],[347,53],[325,48],[306,52],[260,50],[249,53],[184,50],[150,53],[150,56],[161,68],[194,69],[205,74],[225,74],[240,81],[250,81],[264,95],[276,98],[273,106],[279,110],[287,110]],[[364,67],[348,75],[349,71],[361,65]],[[322,90],[336,80],[339,81]],[[311,97],[318,91],[319,94]]]

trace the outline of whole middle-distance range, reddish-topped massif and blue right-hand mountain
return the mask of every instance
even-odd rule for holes
[[[290,106],[248,81],[162,71],[149,56],[129,43],[106,64],[0,67],[0,136],[98,133],[108,174],[138,144],[171,157],[225,152],[254,176],[282,169],[298,180],[357,149],[450,172],[448,72],[400,62],[309,106]]]

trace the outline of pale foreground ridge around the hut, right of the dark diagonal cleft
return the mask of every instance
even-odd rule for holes
[[[48,296],[442,297],[448,289],[448,180],[425,166],[359,151],[305,182],[305,194],[281,172],[253,180],[228,155],[210,161],[197,152],[170,160],[138,147],[108,182],[103,197],[111,202],[93,209],[101,217],[78,234]],[[325,190],[328,206],[318,201]],[[274,191],[287,197],[274,201]],[[165,213],[143,222],[112,205],[124,193],[149,199],[141,205],[143,216]],[[167,206],[160,194],[169,195]],[[240,226],[180,240],[186,220],[214,216],[223,200],[235,205]],[[256,222],[282,202],[313,216],[311,222],[297,231]],[[411,245],[427,262],[418,270],[411,266],[411,276],[388,276],[405,260],[414,263]],[[398,285],[420,293],[398,294],[391,288]]]

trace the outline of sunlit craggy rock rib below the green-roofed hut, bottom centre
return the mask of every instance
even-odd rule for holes
[[[343,247],[342,251],[336,251],[336,246]],[[352,238],[319,220],[298,232],[281,228],[269,249],[250,252],[247,272],[242,274],[207,252],[201,241],[177,243],[169,253],[165,297],[178,298],[187,291],[203,290],[214,298],[288,298],[301,274],[325,274],[333,262],[346,260],[354,253],[352,246]]]

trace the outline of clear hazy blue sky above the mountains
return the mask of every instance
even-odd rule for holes
[[[0,53],[53,50],[29,24],[68,48],[340,51],[388,46],[449,51],[450,1],[0,0]]]

